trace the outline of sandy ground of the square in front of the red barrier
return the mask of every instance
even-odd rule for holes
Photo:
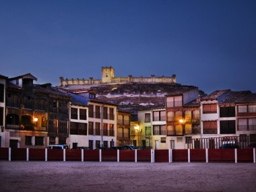
[[[253,163],[0,162],[0,191],[256,191]]]

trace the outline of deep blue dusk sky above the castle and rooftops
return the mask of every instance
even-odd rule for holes
[[[177,75],[177,83],[256,92],[256,1],[0,0],[0,75]]]

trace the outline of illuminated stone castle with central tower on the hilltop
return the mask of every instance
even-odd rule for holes
[[[93,85],[93,84],[129,84],[129,83],[173,83],[176,84],[176,75],[171,77],[156,77],[151,75],[150,77],[133,77],[128,75],[128,77],[115,77],[115,69],[113,67],[102,67],[102,78],[94,79],[90,77],[89,79],[64,79],[59,77],[60,86],[69,85]]]

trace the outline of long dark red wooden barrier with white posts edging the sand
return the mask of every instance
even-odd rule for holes
[[[101,153],[100,153],[101,152]],[[118,153],[119,152],[119,153]],[[0,160],[113,162],[256,162],[255,149],[208,150],[47,150],[0,148]]]

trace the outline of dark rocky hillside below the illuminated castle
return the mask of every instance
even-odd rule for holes
[[[68,86],[68,90],[94,90],[97,98],[107,102],[119,104],[121,110],[134,113],[137,110],[150,110],[165,106],[166,94],[181,94],[195,86],[181,84],[101,84],[97,86]],[[204,92],[200,91],[201,95]]]

